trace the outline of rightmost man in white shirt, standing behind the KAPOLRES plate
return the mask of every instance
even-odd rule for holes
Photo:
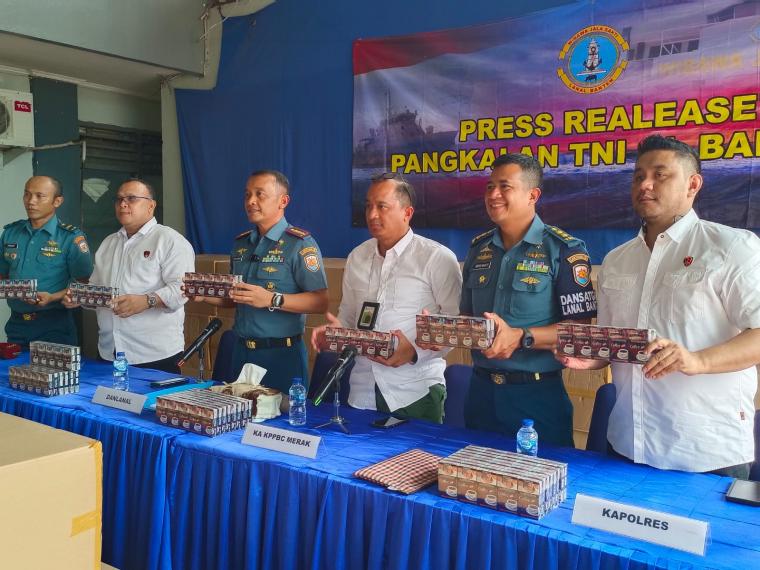
[[[646,348],[646,365],[612,363],[617,400],[607,438],[636,463],[746,479],[760,362],[760,239],[697,217],[694,149],[653,135],[638,151],[631,197],[642,229],[604,259],[598,322],[651,328],[659,338]],[[560,360],[574,368],[598,362]]]

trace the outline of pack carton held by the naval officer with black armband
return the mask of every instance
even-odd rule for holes
[[[461,348],[488,348],[496,333],[494,322],[481,317],[417,315],[417,340]]]

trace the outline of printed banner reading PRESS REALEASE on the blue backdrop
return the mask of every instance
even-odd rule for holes
[[[580,2],[357,40],[353,224],[390,170],[417,190],[415,226],[488,225],[490,165],[522,152],[544,166],[548,223],[634,227],[636,145],[661,133],[699,150],[703,218],[758,228],[758,54],[760,2],[729,0]]]

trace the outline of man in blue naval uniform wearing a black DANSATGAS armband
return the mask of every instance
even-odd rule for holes
[[[582,241],[536,214],[541,166],[525,155],[493,164],[486,210],[497,225],[472,240],[463,269],[462,314],[496,322],[493,345],[473,350],[465,404],[469,428],[514,436],[532,418],[539,441],[573,445],[573,407],[554,358],[555,323],[596,315]]]

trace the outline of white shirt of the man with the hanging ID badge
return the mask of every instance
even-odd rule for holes
[[[440,243],[409,230],[383,257],[372,238],[357,246],[346,260],[338,318],[344,326],[355,328],[362,304],[377,302],[380,310],[374,330],[399,329],[413,343],[416,315],[423,309],[459,314],[461,291],[462,272],[456,255]],[[417,363],[398,368],[357,357],[348,403],[374,410],[377,384],[388,407],[397,410],[426,396],[430,386],[443,384],[446,351],[415,348]]]

